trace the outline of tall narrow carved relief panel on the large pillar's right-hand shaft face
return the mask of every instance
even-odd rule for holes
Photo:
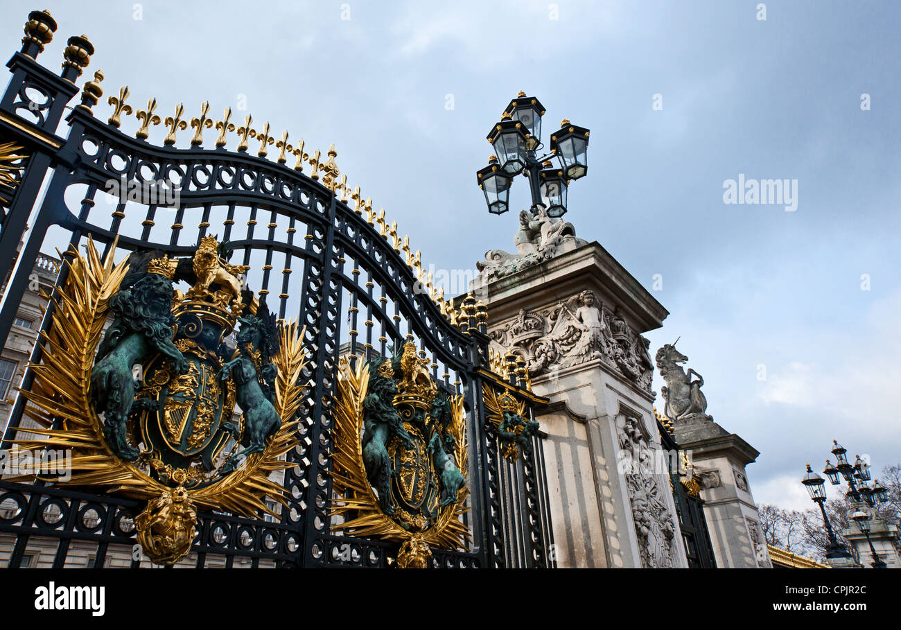
[[[626,417],[619,432],[619,446],[623,458],[624,478],[632,504],[635,534],[643,568],[674,566],[673,537],[676,525],[667,507],[664,491],[653,476],[653,452],[641,425]],[[669,492],[669,488],[665,488]]]

